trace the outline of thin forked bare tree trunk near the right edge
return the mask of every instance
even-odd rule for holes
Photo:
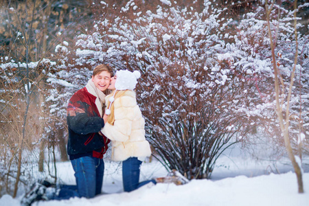
[[[290,85],[288,89],[284,88],[288,85],[286,85],[288,82],[284,81],[285,78],[281,78],[282,71],[279,71],[279,66],[280,64],[277,63],[276,60],[276,55],[275,55],[275,45],[273,43],[273,34],[271,32],[271,18],[270,14],[272,12],[273,6],[276,6],[275,3],[271,3],[271,5],[268,5],[268,1],[265,2],[265,8],[266,8],[266,16],[267,16],[267,27],[268,27],[268,37],[270,39],[270,44],[271,44],[271,56],[272,56],[272,62],[273,62],[273,69],[274,69],[274,78],[275,78],[275,100],[276,100],[276,108],[275,111],[277,113],[277,117],[279,120],[279,125],[282,130],[282,135],[284,137],[284,143],[286,145],[286,150],[288,152],[288,157],[290,158],[290,161],[293,164],[293,168],[295,170],[295,173],[297,175],[297,183],[298,183],[298,192],[299,193],[304,193],[304,185],[303,185],[303,180],[302,180],[302,169],[301,169],[301,143],[303,141],[301,136],[304,136],[304,133],[302,133],[301,127],[303,126],[303,121],[301,117],[301,112],[302,108],[301,106],[297,106],[297,108],[301,108],[299,111],[299,119],[297,119],[299,122],[299,130],[298,130],[298,141],[297,144],[299,144],[299,157],[295,157],[293,154],[293,149],[290,145],[290,119],[295,119],[293,116],[290,116],[290,112],[293,114],[295,113],[293,107],[290,109],[290,103],[293,104],[295,103],[295,95],[293,91],[293,85],[294,85],[294,78],[295,78],[295,71],[296,68],[298,67],[301,68],[301,65],[297,65],[297,56],[300,51],[298,51],[298,39],[297,39],[297,1],[294,2],[294,30],[295,30],[295,53],[294,53],[294,62],[293,62],[293,69],[290,71],[290,75],[287,74],[287,76],[290,77]],[[309,5],[309,4],[308,4]],[[277,7],[278,15],[280,15],[280,10],[282,8]],[[279,25],[279,23],[277,23]],[[301,54],[301,53],[300,53]],[[280,68],[282,69],[282,68]],[[301,72],[300,72],[301,73]],[[279,79],[281,78],[281,82],[279,83]],[[302,82],[301,82],[302,85]],[[307,85],[306,85],[307,86]],[[280,88],[281,87],[281,88]],[[284,93],[287,93],[285,95]],[[293,95],[292,95],[293,93]],[[301,93],[300,93],[301,96]],[[292,100],[293,99],[293,100]],[[300,100],[297,99],[297,102],[301,103],[301,98]],[[296,115],[297,113],[293,114]],[[285,116],[285,117],[284,117]],[[300,161],[299,161],[300,160]]]

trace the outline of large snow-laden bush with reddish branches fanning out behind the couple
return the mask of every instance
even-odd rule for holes
[[[196,12],[197,4],[181,9],[165,3],[145,11],[129,1],[121,16],[96,21],[92,34],[77,37],[76,53],[50,81],[83,87],[86,81],[78,80],[90,78],[102,62],[141,71],[138,102],[155,156],[190,179],[209,178],[221,152],[251,130],[252,120],[236,109],[246,104],[246,91],[225,43],[231,20],[211,1],[203,12]]]

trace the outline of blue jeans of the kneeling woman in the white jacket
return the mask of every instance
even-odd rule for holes
[[[150,182],[154,184],[157,183],[154,179],[139,183],[139,167],[141,163],[142,162],[139,161],[137,157],[130,157],[122,162],[122,181],[124,184],[124,192],[131,192]]]

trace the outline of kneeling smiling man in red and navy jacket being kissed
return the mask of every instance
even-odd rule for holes
[[[31,205],[34,201],[40,200],[68,199],[73,196],[93,198],[101,193],[104,176],[102,158],[109,140],[100,130],[107,119],[107,115],[104,115],[104,103],[112,76],[113,69],[110,66],[98,65],[86,87],[76,91],[67,106],[67,152],[77,185],[60,185],[60,190],[56,191],[47,181],[36,183],[23,197],[22,205]]]

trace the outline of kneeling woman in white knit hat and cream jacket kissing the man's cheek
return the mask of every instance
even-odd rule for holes
[[[107,122],[101,132],[111,139],[113,161],[122,161],[122,180],[124,191],[133,191],[147,183],[157,182],[152,179],[139,183],[139,167],[146,157],[150,157],[151,150],[145,139],[145,121],[136,101],[133,89],[139,71],[117,71],[111,78],[108,89],[113,90],[106,97]]]

